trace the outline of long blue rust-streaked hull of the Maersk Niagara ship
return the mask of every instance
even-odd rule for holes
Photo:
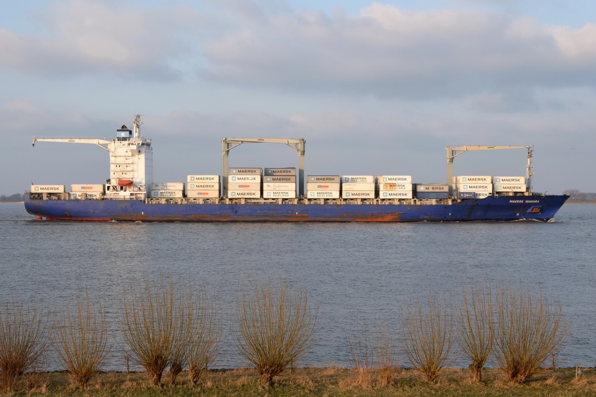
[[[26,195],[25,208],[38,219],[79,221],[550,221],[567,198],[498,196],[444,201],[446,204],[154,204],[136,200],[41,200]]]

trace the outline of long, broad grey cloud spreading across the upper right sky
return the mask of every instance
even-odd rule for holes
[[[277,12],[203,41],[204,79],[303,92],[429,99],[593,82],[596,32],[488,11]]]

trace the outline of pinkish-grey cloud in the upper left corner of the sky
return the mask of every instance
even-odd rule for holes
[[[200,19],[180,5],[135,7],[116,2],[67,0],[33,12],[44,34],[0,29],[0,68],[37,77],[116,74],[171,80],[171,60],[188,48],[177,37]]]

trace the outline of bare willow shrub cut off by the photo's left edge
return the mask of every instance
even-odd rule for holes
[[[0,309],[0,389],[11,390],[19,375],[40,364],[48,342],[41,304],[13,299]]]

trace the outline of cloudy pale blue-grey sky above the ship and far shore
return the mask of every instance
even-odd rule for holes
[[[0,195],[103,183],[142,114],[154,182],[222,174],[223,137],[306,139],[305,173],[445,183],[445,147],[532,145],[533,190],[596,192],[596,2],[29,0],[0,13]],[[525,149],[454,175],[523,176]],[[230,167],[297,167],[285,145]]]

